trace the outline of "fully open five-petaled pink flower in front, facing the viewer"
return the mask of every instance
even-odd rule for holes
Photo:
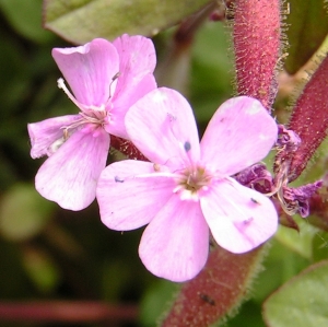
[[[145,267],[172,281],[194,278],[209,253],[209,230],[232,253],[245,253],[277,230],[269,198],[233,176],[263,159],[277,124],[250,97],[229,100],[199,144],[192,110],[177,92],[156,89],[126,116],[134,145],[151,161],[121,161],[98,180],[103,223],[128,231],[148,224],[139,255]]]

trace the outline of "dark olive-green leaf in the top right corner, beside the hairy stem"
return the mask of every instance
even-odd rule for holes
[[[290,47],[285,60],[289,73],[295,73],[320,47],[328,34],[328,15],[324,0],[289,0],[286,15]]]

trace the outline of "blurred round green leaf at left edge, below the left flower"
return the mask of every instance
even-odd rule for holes
[[[42,198],[32,185],[16,184],[0,202],[0,232],[11,241],[37,234],[48,222],[54,203]]]

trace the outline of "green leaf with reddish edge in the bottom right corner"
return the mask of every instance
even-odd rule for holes
[[[267,326],[328,326],[327,289],[328,260],[325,260],[305,269],[265,302]]]

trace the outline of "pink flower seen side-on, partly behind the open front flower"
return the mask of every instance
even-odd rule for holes
[[[128,138],[127,110],[156,87],[155,50],[145,37],[122,35],[113,44],[96,38],[84,46],[55,48],[52,57],[74,96],[62,79],[58,86],[80,113],[28,124],[31,156],[49,156],[36,174],[35,186],[62,208],[81,210],[95,198],[109,133]]]

